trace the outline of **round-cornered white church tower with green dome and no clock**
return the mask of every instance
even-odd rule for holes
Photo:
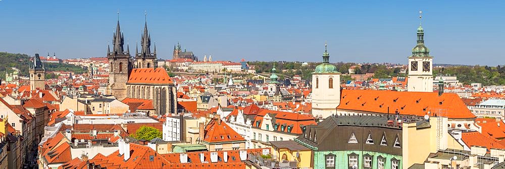
[[[330,54],[324,44],[323,63],[312,73],[312,115],[325,119],[336,114],[340,104],[340,72],[330,64]]]

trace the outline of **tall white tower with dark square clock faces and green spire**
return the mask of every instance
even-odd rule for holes
[[[419,19],[422,18],[421,11]],[[409,57],[409,79],[407,91],[433,92],[433,57],[424,45],[424,29],[419,24],[417,28],[417,45]]]

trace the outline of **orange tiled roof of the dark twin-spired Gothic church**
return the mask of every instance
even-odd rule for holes
[[[128,79],[129,84],[174,84],[163,68],[138,68],[133,69]]]

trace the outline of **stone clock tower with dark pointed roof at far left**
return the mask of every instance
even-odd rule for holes
[[[45,68],[40,62],[40,56],[35,53],[33,64],[30,64],[30,90],[45,90]]]

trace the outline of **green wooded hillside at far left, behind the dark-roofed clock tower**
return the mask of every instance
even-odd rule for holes
[[[12,67],[19,69],[20,76],[28,76],[30,56],[21,53],[0,52],[0,78],[5,79],[5,72],[12,73]],[[69,71],[76,74],[86,73],[87,68],[69,64],[44,63],[47,72],[50,71]]]

